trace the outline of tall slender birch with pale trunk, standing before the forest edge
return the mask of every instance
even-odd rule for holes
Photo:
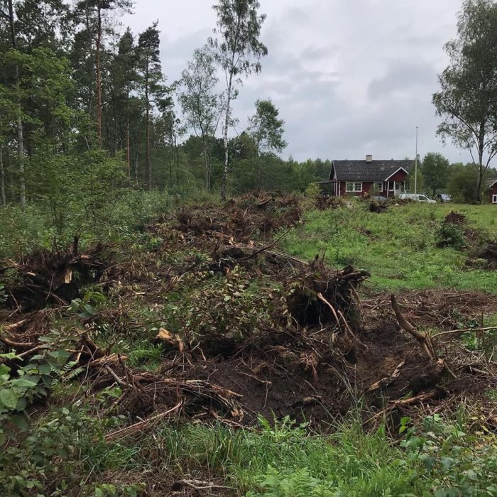
[[[209,45],[217,53],[219,64],[226,77],[226,105],[224,108],[224,170],[221,198],[226,200],[228,182],[229,150],[228,131],[231,121],[231,105],[239,93],[242,76],[261,72],[261,58],[268,49],[261,40],[261,28],[266,19],[259,14],[258,0],[219,0],[213,9],[217,13],[217,38],[209,38]]]

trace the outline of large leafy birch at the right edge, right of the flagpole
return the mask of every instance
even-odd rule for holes
[[[445,45],[450,57],[433,95],[437,133],[473,158],[476,199],[491,160],[497,155],[497,5],[491,0],[465,0],[457,38]]]

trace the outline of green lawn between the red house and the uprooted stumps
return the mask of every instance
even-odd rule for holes
[[[497,205],[413,203],[377,214],[368,211],[367,202],[354,201],[350,207],[306,212],[305,222],[281,246],[300,258],[324,253],[334,266],[371,271],[369,285],[378,290],[457,288],[497,294],[496,271],[465,265],[474,256],[475,241],[462,250],[437,247],[437,229],[451,210],[466,216],[465,229],[483,239],[497,238]]]

